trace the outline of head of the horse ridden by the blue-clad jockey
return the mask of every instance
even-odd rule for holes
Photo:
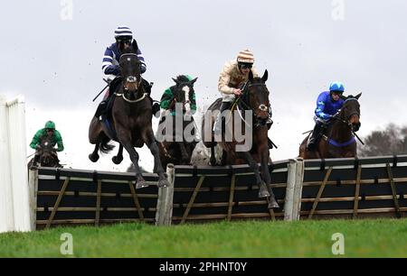
[[[355,97],[350,95],[348,97],[341,96],[345,100],[344,106],[342,106],[339,112],[339,117],[352,127],[354,132],[359,130],[360,127],[360,104],[359,97],[362,93],[359,93]]]

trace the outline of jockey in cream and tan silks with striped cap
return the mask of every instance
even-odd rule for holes
[[[257,69],[253,66],[254,56],[250,50],[240,51],[236,60],[230,60],[223,66],[221,75],[218,82],[218,90],[222,95],[222,105],[220,115],[218,115],[215,122],[214,133],[222,134],[225,129],[225,117],[222,116],[222,124],[219,124],[219,118],[223,111],[230,109],[232,102],[236,96],[241,96],[243,92],[241,87],[249,80],[249,72],[253,74],[254,78],[259,77]],[[267,124],[271,124],[271,115]],[[269,139],[269,147],[272,148],[272,143]]]

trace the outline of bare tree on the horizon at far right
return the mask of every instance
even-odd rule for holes
[[[407,153],[407,126],[388,124],[383,131],[370,133],[364,138],[364,143],[364,146],[358,147],[359,156]]]

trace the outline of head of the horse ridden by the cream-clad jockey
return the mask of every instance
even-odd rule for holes
[[[269,78],[267,69],[261,78],[254,78],[253,73],[250,71],[249,81],[242,89],[243,101],[250,106],[255,119],[257,119],[260,124],[265,124],[269,118],[270,92],[266,86],[267,78]]]

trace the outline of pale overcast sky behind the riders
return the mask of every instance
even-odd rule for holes
[[[104,87],[101,60],[118,25],[135,34],[153,97],[172,77],[190,74],[198,77],[201,108],[220,96],[224,62],[248,48],[260,74],[270,73],[270,137],[279,145],[271,157],[289,159],[313,127],[317,95],[333,80],[345,84],[345,94],[363,92],[362,136],[390,122],[406,124],[406,14],[404,0],[8,1],[0,10],[0,94],[24,95],[27,143],[51,119],[65,142],[62,163],[124,170],[128,160],[115,166],[111,155],[98,164],[87,157],[99,102],[91,99]],[[149,152],[142,152],[149,168]]]

